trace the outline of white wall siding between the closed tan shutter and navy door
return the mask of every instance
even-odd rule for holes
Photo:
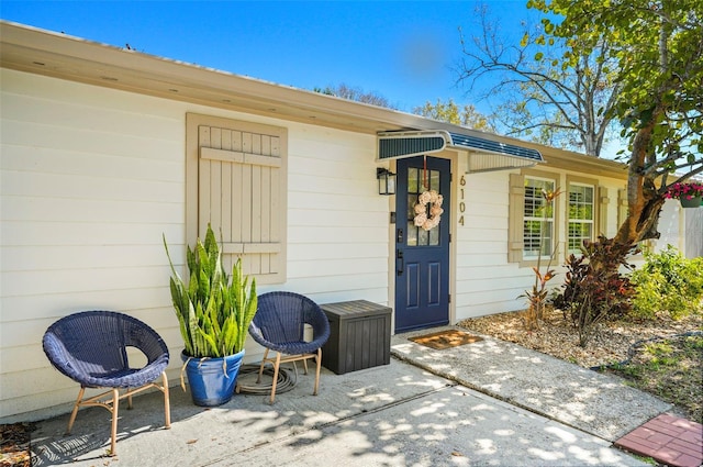
[[[387,303],[389,214],[376,136],[289,127],[286,289],[319,303]]]

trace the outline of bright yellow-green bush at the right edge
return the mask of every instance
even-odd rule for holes
[[[637,294],[636,316],[652,319],[660,311],[674,320],[703,311],[703,258],[684,258],[671,245],[658,254],[645,253],[646,263],[632,275]]]

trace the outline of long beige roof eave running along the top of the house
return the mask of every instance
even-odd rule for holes
[[[276,85],[193,64],[114,47],[0,20],[0,66],[169,100],[330,126],[366,134],[443,130],[534,147],[549,165],[578,165],[609,174],[622,164],[499,136],[377,105]],[[589,160],[591,159],[591,160]]]

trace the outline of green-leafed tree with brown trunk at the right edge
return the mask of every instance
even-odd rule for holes
[[[528,0],[547,13],[543,41],[563,41],[558,66],[574,68],[607,44],[618,86],[607,115],[628,146],[628,215],[615,241],[659,236],[663,193],[703,173],[701,0]]]

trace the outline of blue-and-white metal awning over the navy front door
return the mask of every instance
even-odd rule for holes
[[[439,130],[378,134],[379,160],[439,153],[447,147],[467,151],[469,173],[532,167],[544,162],[536,149],[465,133]]]

